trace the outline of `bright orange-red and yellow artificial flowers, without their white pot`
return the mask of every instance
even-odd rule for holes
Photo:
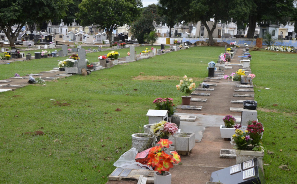
[[[149,150],[148,163],[147,165],[152,166],[155,171],[164,175],[165,171],[169,171],[173,168],[173,164],[178,164],[180,162],[180,156],[177,152],[171,152],[172,155],[165,153],[162,148],[169,148],[172,141],[168,139],[160,139],[157,144],[160,146],[155,146]]]

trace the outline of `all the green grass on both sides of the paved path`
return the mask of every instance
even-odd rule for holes
[[[137,47],[137,53],[143,49]],[[143,132],[153,100],[171,97],[180,104],[175,85],[183,75],[200,83],[207,77],[207,63],[216,61],[223,50],[194,47],[0,93],[0,183],[107,182],[113,163],[131,148],[131,134]],[[127,51],[120,49],[121,57]],[[88,53],[87,58],[95,62],[98,55]],[[297,180],[296,54],[251,51],[251,55],[258,118],[265,126],[265,178],[269,183],[292,183]],[[50,70],[57,59],[63,58],[0,65],[0,79]],[[134,80],[136,76],[167,77]],[[25,134],[33,131],[45,135]]]

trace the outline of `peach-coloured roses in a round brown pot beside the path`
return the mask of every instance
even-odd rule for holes
[[[196,88],[196,84],[193,83],[193,79],[188,79],[187,75],[183,76],[183,79],[179,81],[179,84],[176,85],[176,89],[180,90],[180,92],[183,92],[186,94],[186,96],[182,96],[182,104],[183,105],[190,105],[191,102],[191,96],[188,96],[192,93]]]

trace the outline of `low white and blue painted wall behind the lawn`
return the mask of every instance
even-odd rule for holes
[[[179,41],[190,41],[191,43],[195,43],[196,41],[205,41],[209,38],[170,38],[170,44],[173,44],[173,41],[177,39]],[[256,46],[256,39],[249,39],[249,38],[213,38],[214,40],[217,40],[217,42],[227,42],[230,44],[230,42],[235,42],[239,46],[244,46],[244,43],[247,43],[249,47]],[[166,38],[158,37],[156,44],[166,44]],[[263,45],[266,45],[263,41]],[[278,46],[291,46],[291,47],[297,47],[297,41],[296,40],[276,40],[274,42],[274,45]]]

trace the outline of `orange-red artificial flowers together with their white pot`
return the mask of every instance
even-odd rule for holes
[[[168,172],[170,168],[173,168],[173,164],[180,162],[180,156],[177,152],[171,152],[167,154],[163,151],[163,148],[169,148],[172,141],[168,139],[161,139],[157,142],[160,146],[155,146],[149,150],[147,165],[154,168],[154,183],[155,184],[170,184],[171,174]]]

